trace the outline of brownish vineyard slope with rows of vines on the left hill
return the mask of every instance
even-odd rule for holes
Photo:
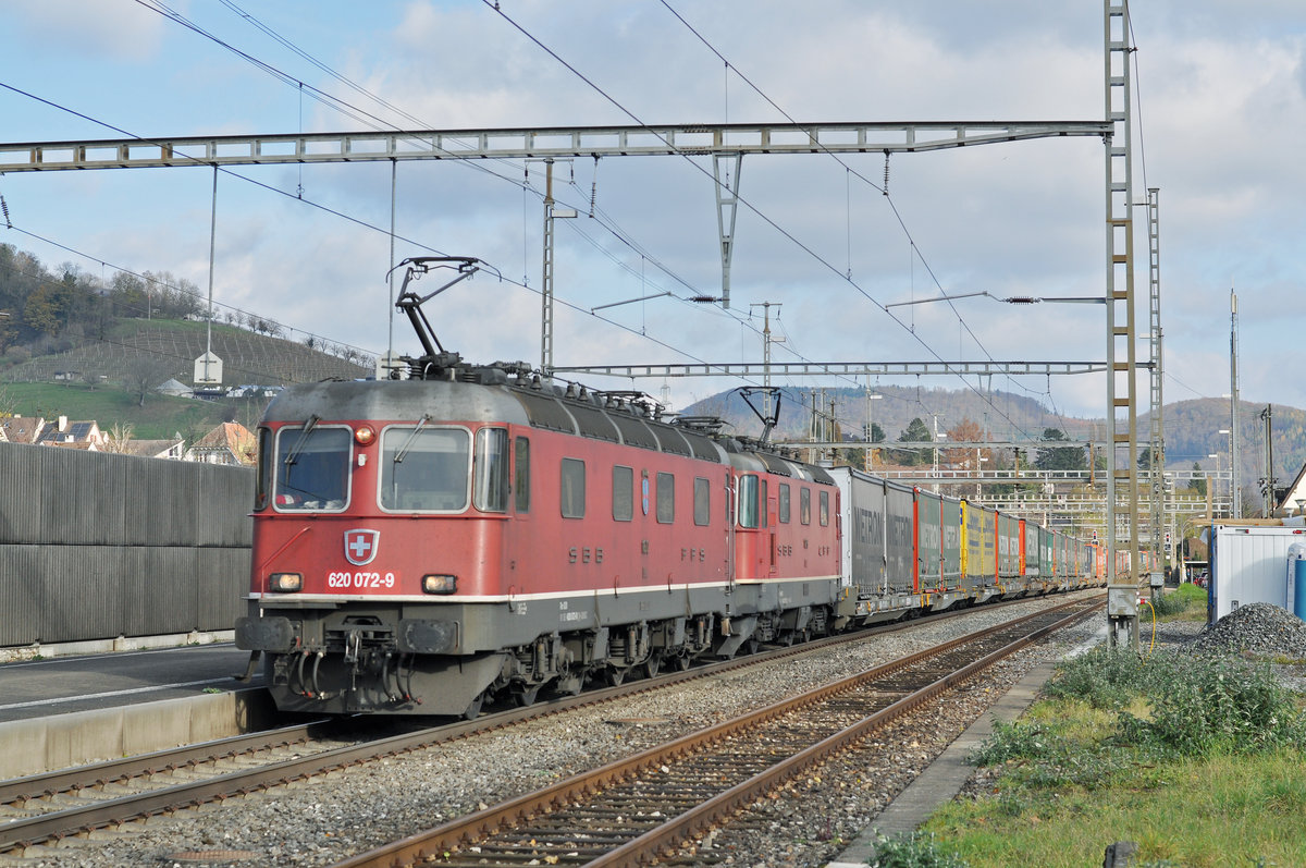
[[[4,379],[12,383],[119,383],[132,376],[141,358],[148,358],[158,363],[161,383],[171,376],[189,384],[195,359],[205,346],[205,323],[125,319],[102,337],[86,339],[81,346],[14,365],[4,371]],[[304,344],[218,323],[213,324],[213,353],[222,359],[223,382],[231,386],[285,386],[333,376],[357,379],[374,373],[371,366]]]

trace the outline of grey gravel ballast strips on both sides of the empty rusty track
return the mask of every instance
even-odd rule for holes
[[[1030,600],[1003,610],[980,608],[960,618],[852,647],[725,673],[601,709],[552,715],[176,817],[132,824],[93,841],[67,841],[57,850],[33,852],[17,864],[330,865],[782,695],[1064,599]],[[895,724],[880,737],[892,748],[889,752],[850,752],[827,763],[750,813],[746,835],[716,835],[704,842],[700,856],[756,868],[823,864],[870,826],[919,769],[1029,668],[1062,656],[1101,626],[1101,618],[1089,618],[1074,635],[1019,652],[991,675],[955,692],[942,711],[921,712]],[[213,858],[196,859],[204,855]]]

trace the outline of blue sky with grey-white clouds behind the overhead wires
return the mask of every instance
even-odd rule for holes
[[[338,132],[363,129],[362,112],[409,129],[1104,115],[1101,0],[498,7],[9,0],[0,142]],[[1166,400],[1229,392],[1234,286],[1242,396],[1306,407],[1306,378],[1292,373],[1306,282],[1306,8],[1135,0],[1131,17],[1136,197],[1161,191]],[[683,301],[720,294],[709,159],[559,165],[558,196],[581,217],[558,229],[555,363],[760,362],[761,302],[778,305],[773,361],[1105,358],[1100,306],[976,297],[882,309],[940,293],[1102,294],[1101,141],[897,154],[888,196],[882,156],[841,159],[744,159],[730,311]],[[471,359],[538,363],[542,166],[409,161],[397,174],[397,258],[477,256],[505,278],[483,273],[432,301],[440,340]],[[212,184],[208,169],[8,174],[13,227],[0,226],[0,242],[106,280],[168,271],[206,288]],[[388,165],[238,167],[219,176],[217,214],[219,303],[387,348]],[[1141,229],[1136,251],[1145,305]],[[589,312],[656,293],[673,295]],[[1145,306],[1139,322],[1145,357]],[[393,333],[397,350],[415,349],[402,323]],[[739,383],[669,384],[683,407]],[[1054,414],[1105,413],[1100,376],[966,384],[1030,395]],[[1139,400],[1145,409],[1145,386]],[[1000,417],[995,403],[996,431]]]

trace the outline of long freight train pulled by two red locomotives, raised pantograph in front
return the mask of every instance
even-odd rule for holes
[[[663,418],[637,393],[465,363],[407,290],[448,261],[409,265],[398,307],[426,352],[406,379],[291,387],[259,426],[236,644],[263,652],[282,710],[473,718],[1102,583],[1098,546],[982,503]]]

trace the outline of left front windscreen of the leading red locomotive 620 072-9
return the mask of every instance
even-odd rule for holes
[[[278,510],[340,511],[349,502],[353,435],[347,427],[320,427],[317,417],[277,434]]]

